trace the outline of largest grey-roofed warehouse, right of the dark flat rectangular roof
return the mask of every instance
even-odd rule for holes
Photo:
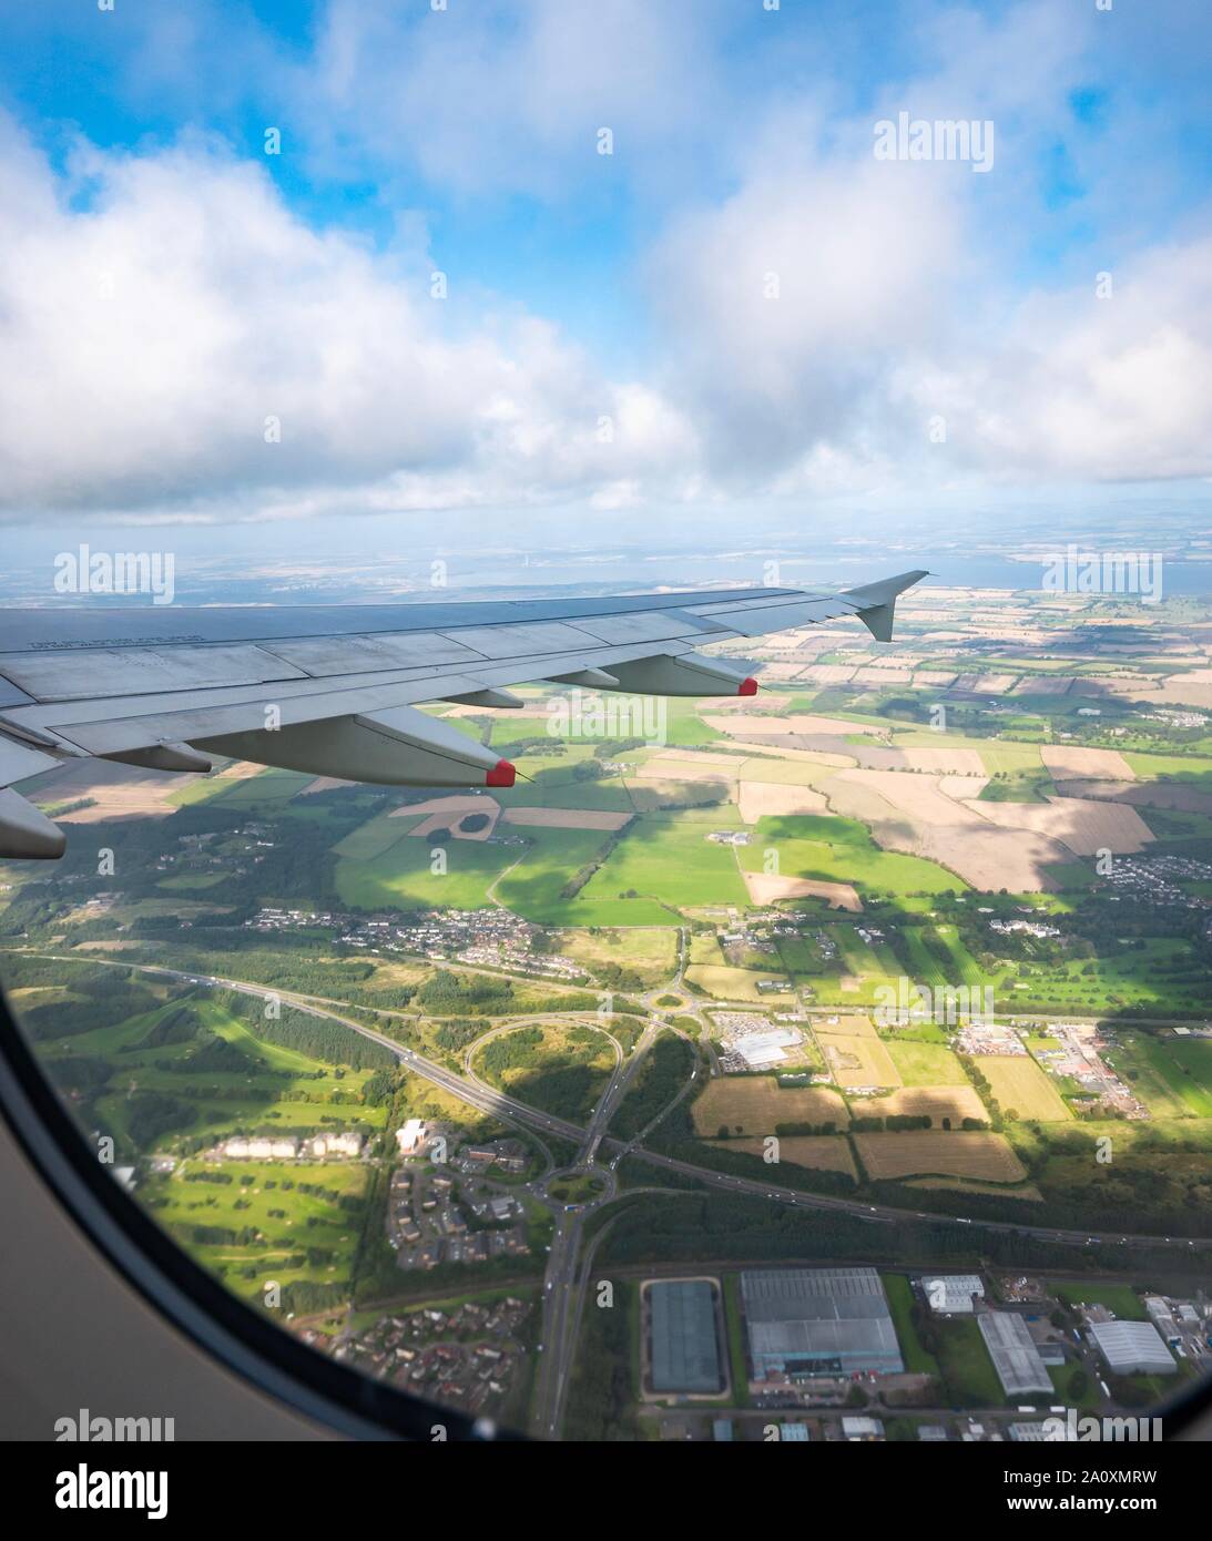
[[[740,1276],[756,1381],[905,1368],[874,1268],[762,1268]]]

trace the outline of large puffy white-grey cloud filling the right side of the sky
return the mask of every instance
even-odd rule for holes
[[[779,105],[732,196],[655,243],[662,385],[712,476],[794,498],[1210,475],[1212,242],[1126,250],[1113,300],[1095,297],[1103,262],[1084,284],[1022,284],[1030,242],[1069,228],[1042,205],[1041,157],[1090,18],[1033,3],[928,26],[931,74],[865,116]],[[874,160],[873,123],[901,108],[990,117],[995,168]],[[1103,174],[1123,199],[1130,168]]]

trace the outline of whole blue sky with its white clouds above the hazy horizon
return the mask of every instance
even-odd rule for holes
[[[0,22],[11,519],[780,527],[1212,472],[1198,0]],[[991,123],[988,170],[876,159],[901,111]]]

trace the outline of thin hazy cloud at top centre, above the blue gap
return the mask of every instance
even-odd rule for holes
[[[328,156],[412,160],[447,193],[574,191],[604,174],[611,128],[631,177],[712,133],[722,0],[333,0],[293,94]]]

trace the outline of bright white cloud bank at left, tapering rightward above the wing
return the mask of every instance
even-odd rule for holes
[[[603,379],[543,321],[430,299],[423,251],[310,230],[221,146],[80,146],[65,188],[3,137],[11,513],[527,501],[665,479],[694,456],[646,387]]]

